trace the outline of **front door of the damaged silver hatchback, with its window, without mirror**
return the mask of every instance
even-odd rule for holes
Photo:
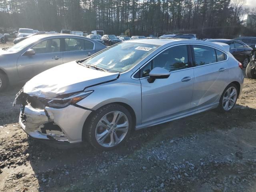
[[[190,68],[191,54],[187,45],[167,48],[140,69],[142,91],[142,123],[184,112],[190,108],[194,72]],[[148,82],[155,67],[166,68],[170,76]]]

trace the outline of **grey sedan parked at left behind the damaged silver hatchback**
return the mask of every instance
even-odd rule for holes
[[[0,91],[8,85],[26,82],[54,66],[91,56],[106,48],[83,36],[40,34],[11,48],[0,49]]]

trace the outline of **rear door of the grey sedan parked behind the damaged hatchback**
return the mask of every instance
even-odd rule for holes
[[[84,59],[95,52],[94,42],[82,38],[64,38],[63,62]]]

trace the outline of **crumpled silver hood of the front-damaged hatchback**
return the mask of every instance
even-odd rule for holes
[[[82,91],[94,84],[115,80],[118,76],[118,73],[87,68],[72,61],[34,76],[24,85],[23,91],[33,96],[54,98],[62,94]]]

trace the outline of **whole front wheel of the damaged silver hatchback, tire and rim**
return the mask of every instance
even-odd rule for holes
[[[132,116],[122,105],[108,104],[93,112],[85,137],[98,150],[113,150],[129,137]]]

